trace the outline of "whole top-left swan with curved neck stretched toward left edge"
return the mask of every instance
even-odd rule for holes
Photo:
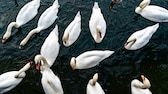
[[[5,43],[11,36],[12,27],[19,28],[20,26],[32,20],[37,15],[39,6],[40,0],[33,0],[24,5],[16,17],[16,22],[11,22],[8,25],[6,33],[2,38],[2,43]]]

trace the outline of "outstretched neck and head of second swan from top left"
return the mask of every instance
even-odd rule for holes
[[[35,33],[39,33],[40,30],[38,28],[33,29],[29,32],[29,34],[21,41],[19,48],[23,48],[24,45],[26,45],[26,43],[29,41],[30,37],[35,34]]]

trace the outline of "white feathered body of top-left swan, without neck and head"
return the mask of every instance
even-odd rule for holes
[[[40,0],[33,0],[24,5],[16,17],[18,26],[26,24],[28,21],[32,20],[37,15],[39,7]]]

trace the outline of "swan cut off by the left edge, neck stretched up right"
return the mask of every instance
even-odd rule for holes
[[[0,75],[0,94],[10,91],[15,88],[26,76],[27,71],[32,65],[32,62],[27,63],[19,71],[9,71]]]

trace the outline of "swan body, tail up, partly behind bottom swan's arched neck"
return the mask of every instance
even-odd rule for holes
[[[58,56],[60,45],[58,42],[58,26],[51,31],[41,46],[41,55],[45,57],[51,67]]]

